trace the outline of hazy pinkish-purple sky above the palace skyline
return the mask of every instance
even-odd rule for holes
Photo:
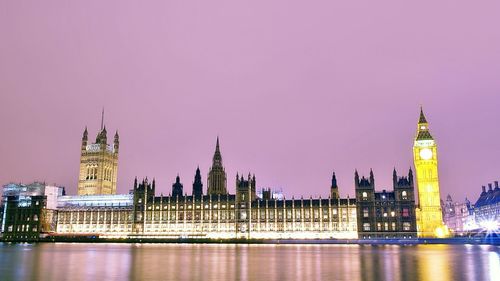
[[[28,3],[31,2],[31,3]],[[118,191],[177,173],[206,190],[217,135],[236,172],[287,196],[377,189],[412,166],[423,104],[441,194],[500,179],[498,1],[3,1],[0,183],[76,193],[85,125],[118,129]]]

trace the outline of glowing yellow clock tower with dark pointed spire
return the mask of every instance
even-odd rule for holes
[[[444,237],[448,234],[448,230],[443,224],[441,213],[437,145],[429,132],[429,124],[422,108],[413,144],[413,161],[417,171],[418,236]]]

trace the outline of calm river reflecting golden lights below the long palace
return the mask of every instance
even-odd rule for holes
[[[0,243],[0,280],[500,280],[500,247]]]

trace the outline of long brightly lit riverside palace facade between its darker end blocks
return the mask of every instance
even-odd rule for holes
[[[128,195],[62,196],[57,234],[127,238],[357,238],[354,199],[260,199],[255,178],[236,195],[156,196],[155,181]]]

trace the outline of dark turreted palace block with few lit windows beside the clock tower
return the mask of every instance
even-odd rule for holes
[[[393,191],[375,191],[375,177],[354,174],[359,239],[415,239],[417,225],[413,172],[398,177],[393,172]]]

